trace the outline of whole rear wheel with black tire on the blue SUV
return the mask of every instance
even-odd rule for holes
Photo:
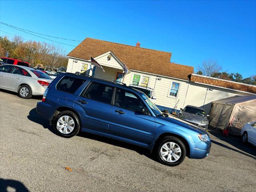
[[[72,124],[71,122],[74,122]],[[78,116],[72,111],[62,111],[54,118],[54,130],[59,136],[70,138],[80,131]]]

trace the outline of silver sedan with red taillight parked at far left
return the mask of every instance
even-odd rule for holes
[[[34,68],[4,64],[0,66],[0,88],[18,92],[21,98],[43,95],[52,78]]]

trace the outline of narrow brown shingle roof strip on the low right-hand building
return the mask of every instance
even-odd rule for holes
[[[206,77],[206,76],[201,76],[197,74],[191,74],[190,81],[256,94],[256,86],[254,85],[248,85],[248,84],[243,84],[243,83],[238,83],[238,82],[233,82],[228,80]]]

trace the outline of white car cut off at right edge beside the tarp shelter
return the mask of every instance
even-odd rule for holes
[[[256,146],[256,122],[247,123],[241,130],[243,142],[249,142]]]

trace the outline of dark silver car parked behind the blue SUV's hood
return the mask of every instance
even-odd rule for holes
[[[180,110],[178,118],[194,124],[203,130],[208,129],[209,115],[205,115],[204,108],[187,105],[184,109],[180,108]]]

